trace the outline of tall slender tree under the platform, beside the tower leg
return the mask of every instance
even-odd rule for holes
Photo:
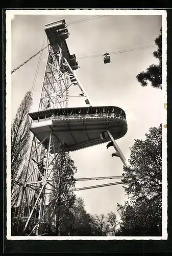
[[[50,194],[50,202],[55,200],[56,204],[50,207],[49,214],[55,211],[54,218],[51,220],[51,230],[56,236],[61,232],[69,232],[64,230],[64,223],[70,220],[72,206],[75,203],[76,196],[72,189],[75,187],[75,178],[73,175],[76,173],[77,167],[74,165],[73,160],[70,158],[69,153],[61,152],[56,162],[56,169],[53,174],[53,190]]]

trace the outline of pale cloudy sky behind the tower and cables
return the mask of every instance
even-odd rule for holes
[[[94,16],[94,15],[93,15]],[[91,15],[14,15],[11,27],[11,69],[19,66],[42,47],[45,24],[65,19],[66,24]],[[76,54],[79,69],[75,74],[89,96],[92,106],[114,105],[126,112],[127,134],[116,140],[128,160],[134,139],[145,139],[150,127],[159,126],[162,114],[162,91],[141,87],[136,75],[157,63],[155,48],[112,54],[111,62],[104,64],[105,52],[154,44],[162,21],[160,15],[108,15],[68,25],[66,40],[70,54]],[[87,58],[82,58],[86,56]],[[90,56],[90,57],[89,57]],[[11,76],[11,121],[26,92],[31,90],[39,56],[15,71]],[[37,75],[31,112],[38,111],[41,87],[45,72],[47,50],[43,51]],[[84,101],[69,101],[69,106],[85,106]],[[122,175],[120,159],[111,157],[112,147],[106,143],[72,152],[77,166],[76,178]],[[118,181],[118,180],[117,180]],[[76,187],[111,183],[115,180],[80,181]],[[117,210],[117,203],[127,200],[122,185],[76,191],[82,197],[90,214],[107,214]]]

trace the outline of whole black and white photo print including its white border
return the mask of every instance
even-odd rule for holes
[[[7,239],[167,239],[166,26],[6,11]]]

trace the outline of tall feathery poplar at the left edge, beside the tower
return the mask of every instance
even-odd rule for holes
[[[24,160],[29,148],[30,125],[28,113],[32,105],[31,92],[27,92],[21,101],[11,126],[11,194],[12,205],[16,201],[17,181],[23,177]],[[14,193],[16,196],[14,196]]]

